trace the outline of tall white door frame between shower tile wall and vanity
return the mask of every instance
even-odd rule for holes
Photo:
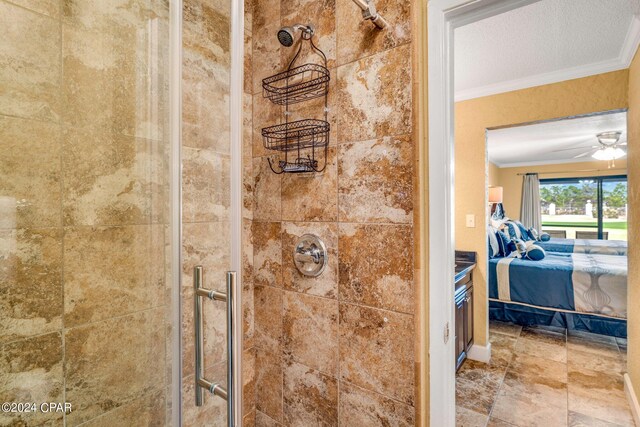
[[[539,0],[429,0],[429,420],[455,426],[453,30]],[[445,340],[448,336],[448,340]],[[445,342],[446,341],[446,342]]]

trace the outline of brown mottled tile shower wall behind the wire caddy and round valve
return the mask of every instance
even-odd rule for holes
[[[414,425],[414,167],[411,2],[377,0],[390,28],[351,0],[254,2],[253,285],[257,426]],[[320,174],[276,175],[261,128],[282,120],[261,80],[294,48],[282,25],[312,23],[329,59],[332,127]],[[308,58],[311,56],[306,55]],[[298,115],[322,116],[322,105]],[[248,149],[249,147],[247,147]],[[301,276],[293,245],[319,235],[329,265]]]

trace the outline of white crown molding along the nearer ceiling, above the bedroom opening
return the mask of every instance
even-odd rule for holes
[[[481,98],[483,96],[497,95],[499,93],[528,89],[546,84],[558,83],[566,80],[574,80],[595,74],[610,73],[629,68],[633,57],[640,45],[640,17],[635,15],[629,25],[620,54],[617,58],[607,61],[585,64],[578,67],[565,68],[549,73],[536,74],[521,79],[507,80],[472,89],[460,90],[455,93],[455,101],[466,101]]]

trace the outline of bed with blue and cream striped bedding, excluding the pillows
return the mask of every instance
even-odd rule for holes
[[[552,253],[489,260],[490,317],[626,337],[627,257]]]

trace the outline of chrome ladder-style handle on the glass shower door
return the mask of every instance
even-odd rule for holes
[[[196,406],[204,404],[204,391],[208,390],[214,396],[221,397],[227,401],[227,421],[229,427],[235,427],[234,419],[234,381],[233,381],[233,349],[235,345],[234,336],[234,314],[235,292],[236,292],[236,272],[227,271],[227,292],[219,292],[202,286],[202,266],[198,265],[193,269],[193,298],[194,298],[194,329],[195,329],[195,392]],[[227,304],[227,388],[218,383],[211,382],[204,377],[204,319],[202,316],[202,298],[206,297],[214,301],[224,301]]]

